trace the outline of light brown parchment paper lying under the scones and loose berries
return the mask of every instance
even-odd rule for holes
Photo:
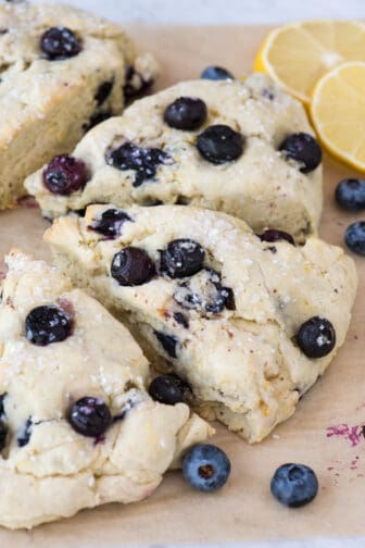
[[[207,64],[236,75],[249,71],[265,27],[133,27],[141,47],[163,67],[159,87],[198,77]],[[336,114],[336,113],[333,113]],[[325,159],[322,236],[342,245],[344,228],[362,215],[345,214],[333,188],[350,170]],[[365,217],[365,213],[363,215]],[[0,253],[12,246],[49,257],[41,242],[48,223],[39,211],[0,214]],[[33,532],[0,531],[7,548],[112,547],[131,543],[203,543],[263,538],[365,535],[365,259],[355,258],[361,284],[347,342],[325,376],[299,403],[297,414],[264,443],[249,446],[218,427],[214,440],[229,454],[228,485],[214,495],[190,489],[180,473],[169,473],[154,495],[127,507],[109,505]],[[288,510],[269,494],[276,466],[298,461],[317,472],[320,489],[306,508]],[[1,486],[0,486],[1,488]],[[1,496],[1,490],[0,490]]]

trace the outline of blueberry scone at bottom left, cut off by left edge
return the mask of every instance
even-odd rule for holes
[[[32,527],[149,496],[211,433],[153,401],[125,327],[41,261],[7,259],[0,306],[0,524]]]

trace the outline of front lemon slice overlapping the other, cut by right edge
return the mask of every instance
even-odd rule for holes
[[[311,117],[322,145],[365,172],[365,62],[344,63],[319,79]]]

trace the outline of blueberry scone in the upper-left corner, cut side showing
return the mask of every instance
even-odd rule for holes
[[[155,74],[119,26],[66,5],[1,4],[0,57],[1,209]]]

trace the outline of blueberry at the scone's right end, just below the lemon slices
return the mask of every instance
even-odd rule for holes
[[[289,135],[279,146],[287,158],[291,158],[301,164],[302,173],[310,173],[322,162],[322,150],[312,135],[295,133]]]

